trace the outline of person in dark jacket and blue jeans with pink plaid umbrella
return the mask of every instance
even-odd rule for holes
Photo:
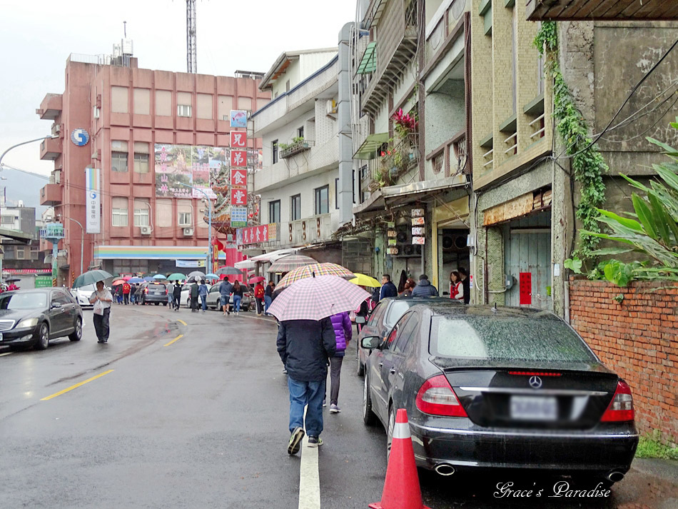
[[[291,284],[268,308],[280,321],[276,344],[280,360],[288,371],[288,454],[298,453],[304,425],[308,446],[323,445],[320,433],[323,432],[328,359],[337,352],[330,316],[357,308],[369,296],[362,288],[338,276],[318,276]]]

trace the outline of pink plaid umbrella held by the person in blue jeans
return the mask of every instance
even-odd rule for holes
[[[320,320],[353,311],[370,296],[360,286],[338,276],[304,278],[275,298],[268,313],[278,320]]]

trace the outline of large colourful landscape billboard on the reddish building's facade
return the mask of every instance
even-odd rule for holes
[[[227,148],[156,143],[156,197],[203,198],[203,191],[216,198],[213,183],[226,168],[227,157]]]

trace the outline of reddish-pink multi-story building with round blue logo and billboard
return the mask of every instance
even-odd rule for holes
[[[270,99],[258,89],[260,74],[242,76],[139,69],[128,40],[113,56],[69,56],[64,93],[47,94],[36,110],[59,135],[40,147],[42,159],[54,160],[41,204],[54,206],[66,231],[59,284],[77,275],[82,238],[84,270],[168,272],[178,259],[206,258],[213,203],[196,189],[214,196],[208,167],[224,162],[218,148],[230,144],[231,110],[256,111]],[[175,173],[158,171],[170,153]],[[98,228],[87,225],[86,168],[100,170]]]

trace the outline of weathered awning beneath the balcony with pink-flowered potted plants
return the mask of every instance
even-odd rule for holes
[[[389,208],[416,203],[432,194],[444,193],[452,188],[466,185],[466,176],[460,174],[430,181],[401,184],[400,186],[386,186],[372,193],[370,199],[365,203],[353,207],[353,213],[358,216],[362,213],[385,211]]]

